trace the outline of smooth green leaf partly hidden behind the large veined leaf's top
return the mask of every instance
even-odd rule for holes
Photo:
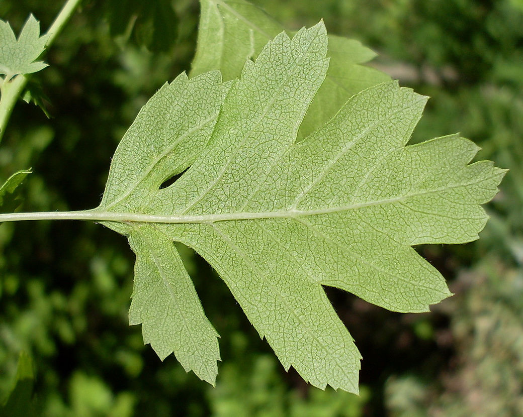
[[[237,78],[246,59],[255,59],[283,27],[263,10],[244,0],[200,0],[198,48],[191,76],[220,69],[224,80]],[[357,92],[390,81],[364,64],[376,54],[355,40],[329,35],[330,65],[300,126],[298,140],[329,120]]]

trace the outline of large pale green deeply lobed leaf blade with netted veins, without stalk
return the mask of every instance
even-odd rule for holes
[[[174,241],[219,272],[286,369],[358,392],[361,356],[322,285],[428,311],[451,294],[412,246],[476,239],[480,204],[505,173],[468,165],[478,148],[458,135],[405,146],[426,97],[396,82],[363,90],[296,142],[326,54],[320,22],[280,33],[232,83],[183,74],[145,105],[112,160],[95,211],[122,219],[105,224],[137,253],[130,322],[203,379],[215,378],[216,333]]]

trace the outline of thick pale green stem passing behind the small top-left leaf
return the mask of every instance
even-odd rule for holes
[[[56,16],[53,24],[47,31],[49,35],[46,42],[47,48],[51,46],[80,2],[81,0],[67,0],[64,4],[60,13]],[[2,84],[2,97],[0,98],[0,141],[2,141],[2,137],[4,136],[5,128],[15,107],[16,100],[25,88],[28,79],[27,75],[19,74],[10,80],[5,79]]]

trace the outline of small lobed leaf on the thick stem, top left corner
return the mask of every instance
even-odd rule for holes
[[[46,48],[48,35],[40,36],[40,24],[29,15],[18,40],[8,22],[0,20],[0,74],[7,80],[17,74],[31,74],[47,66],[35,61]]]

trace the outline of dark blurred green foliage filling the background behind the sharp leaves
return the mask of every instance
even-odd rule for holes
[[[50,66],[33,76],[51,119],[32,104],[20,101],[15,108],[0,146],[0,183],[32,167],[21,189],[24,211],[98,205],[110,156],[140,107],[166,80],[190,68],[197,2],[160,2],[176,19],[172,27],[158,28],[168,30],[158,32],[164,34],[157,48],[147,43],[151,32],[140,38],[131,30],[133,2],[117,14],[119,21],[106,13],[117,3],[86,0],[48,51]],[[217,275],[181,247],[222,335],[224,362],[213,389],[186,374],[174,357],[161,363],[143,346],[140,328],[128,327],[134,259],[123,237],[80,222],[3,224],[0,398],[13,388],[25,351],[35,363],[35,390],[46,416],[520,415],[521,1],[255,3],[289,29],[323,17],[332,33],[376,50],[373,65],[433,96],[414,142],[461,131],[482,146],[478,158],[510,168],[487,206],[492,218],[478,242],[418,248],[456,296],[431,314],[399,315],[329,290],[365,360],[360,398],[323,392],[283,372]],[[3,0],[0,17],[19,31],[32,12],[45,29],[61,6],[59,0]],[[143,21],[150,24],[154,15]]]

